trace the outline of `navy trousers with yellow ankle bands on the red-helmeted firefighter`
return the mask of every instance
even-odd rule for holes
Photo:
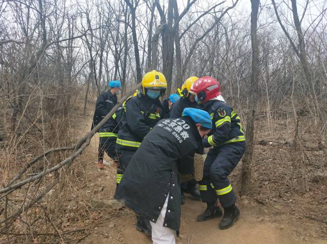
[[[245,152],[245,142],[235,142],[210,149],[204,161],[203,179],[199,183],[202,202],[214,203],[217,197],[226,208],[236,202],[228,175]]]

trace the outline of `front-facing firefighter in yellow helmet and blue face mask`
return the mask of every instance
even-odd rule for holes
[[[125,113],[116,140],[116,152],[119,158],[116,175],[118,188],[131,158],[144,137],[159,120],[164,118],[164,108],[159,98],[165,94],[166,88],[165,76],[158,71],[150,71],[143,76],[141,93],[129,99],[125,105]],[[149,221],[138,215],[136,229],[151,236]]]

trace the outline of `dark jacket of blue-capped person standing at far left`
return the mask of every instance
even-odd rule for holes
[[[104,92],[98,97],[91,129],[96,127],[103,117],[110,112],[110,110],[116,105],[117,100],[117,96],[113,95],[110,91]]]

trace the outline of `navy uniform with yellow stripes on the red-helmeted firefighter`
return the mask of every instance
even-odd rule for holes
[[[202,108],[212,118],[213,128],[204,147],[211,147],[204,161],[203,179],[199,183],[202,202],[214,203],[217,197],[222,207],[236,202],[228,175],[237,166],[245,151],[245,136],[240,117],[224,101],[206,102]]]

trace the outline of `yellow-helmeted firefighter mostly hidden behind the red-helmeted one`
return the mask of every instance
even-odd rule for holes
[[[192,84],[198,79],[196,76],[191,76],[186,79],[179,91],[181,98],[175,102],[170,110],[170,118],[180,118],[182,112],[186,107],[196,107],[197,102],[195,101],[195,96],[190,94]],[[191,180],[180,184],[181,189],[181,204],[184,204],[184,193],[190,194],[193,198],[200,200],[200,192],[196,189],[196,181]]]

